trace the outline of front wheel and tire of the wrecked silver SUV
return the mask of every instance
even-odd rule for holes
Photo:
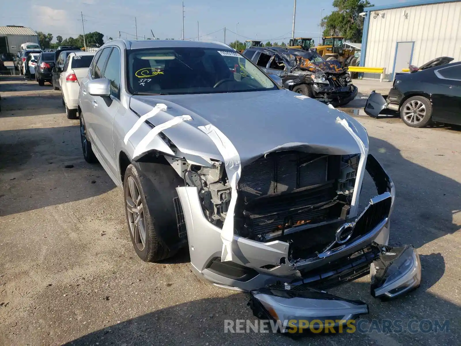
[[[179,240],[173,198],[177,197],[177,173],[169,165],[148,163],[148,175],[130,164],[124,175],[124,199],[128,229],[136,254],[145,262],[157,262],[171,257],[170,251],[160,242]]]

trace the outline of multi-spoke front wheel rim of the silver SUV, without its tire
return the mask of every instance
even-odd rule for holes
[[[126,211],[131,235],[136,247],[142,251],[146,246],[146,224],[144,222],[144,208],[141,194],[135,179],[128,177],[125,189]]]

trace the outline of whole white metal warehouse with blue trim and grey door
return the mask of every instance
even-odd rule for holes
[[[441,56],[461,60],[461,0],[410,1],[364,11],[360,66],[385,67],[392,80],[410,64]]]

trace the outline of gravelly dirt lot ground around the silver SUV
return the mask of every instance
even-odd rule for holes
[[[78,121],[46,85],[0,82],[0,345],[459,345],[459,128],[358,117],[396,185],[390,243],[417,247],[423,282],[386,303],[367,277],[331,290],[368,303],[369,323],[447,319],[449,332],[225,334],[225,319],[254,321],[248,297],[196,279],[185,251],[162,263],[136,257],[121,191],[83,160]]]

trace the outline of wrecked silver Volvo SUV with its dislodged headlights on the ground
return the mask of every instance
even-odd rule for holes
[[[322,290],[370,270],[377,298],[420,284],[415,249],[388,245],[395,187],[365,128],[229,46],[107,42],[78,105],[83,157],[123,189],[142,260],[188,248],[199,278],[284,326],[367,313]],[[376,196],[359,207],[365,174]]]

